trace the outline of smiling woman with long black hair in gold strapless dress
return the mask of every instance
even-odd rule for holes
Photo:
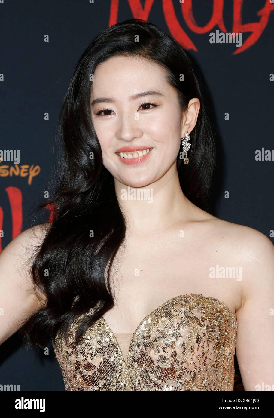
[[[142,20],[100,33],[57,133],[51,222],[0,257],[0,342],[52,338],[66,390],[233,390],[235,350],[245,390],[274,382],[273,245],[209,213],[214,140],[180,45]]]

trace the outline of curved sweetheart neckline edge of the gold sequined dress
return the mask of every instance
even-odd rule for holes
[[[129,354],[130,354],[130,348],[131,348],[131,346],[132,346],[132,343],[134,342],[135,335],[136,335],[136,334],[137,334],[137,332],[139,331],[140,326],[142,325],[142,323],[143,323],[144,321],[146,321],[146,320],[147,320],[147,319],[148,319],[151,315],[153,315],[153,314],[155,313],[155,311],[157,311],[159,308],[162,308],[162,306],[164,306],[165,304],[167,304],[167,303],[171,303],[171,302],[173,302],[175,299],[183,298],[183,297],[185,297],[185,296],[202,296],[202,297],[203,297],[203,298],[205,298],[205,299],[211,299],[211,300],[213,300],[213,301],[218,302],[218,304],[219,304],[220,306],[222,306],[222,307],[223,307],[223,308],[224,308],[224,309],[228,312],[228,314],[229,314],[229,315],[232,315],[232,316],[233,316],[233,319],[234,319],[234,320],[236,320],[236,323],[237,323],[237,318],[236,318],[236,316],[233,314],[233,312],[232,312],[232,311],[228,308],[228,306],[226,306],[226,304],[225,304],[224,302],[219,301],[217,298],[213,298],[212,296],[204,296],[204,295],[202,295],[202,293],[185,293],[185,295],[178,295],[178,296],[174,296],[173,298],[170,298],[170,299],[168,299],[167,301],[165,301],[165,302],[161,303],[159,306],[157,306],[157,308],[155,308],[152,312],[150,312],[150,314],[148,314],[147,316],[145,316],[145,318],[144,318],[144,319],[142,319],[142,321],[140,322],[140,324],[137,326],[137,328],[135,329],[135,331],[134,331],[133,333],[126,333],[126,334],[132,334],[132,338],[131,338],[131,340],[130,340],[129,347],[128,347],[128,349],[127,349],[127,359],[125,360],[125,359],[124,359],[124,356],[123,356],[123,354],[122,354],[121,347],[120,347],[120,345],[119,345],[119,343],[118,343],[118,340],[117,340],[117,338],[116,338],[115,333],[112,331],[112,329],[110,328],[109,324],[108,324],[108,323],[107,323],[107,321],[104,319],[104,317],[103,317],[103,316],[100,316],[100,317],[99,317],[99,319],[100,319],[101,321],[103,321],[104,325],[107,327],[108,331],[111,333],[111,336],[113,335],[113,337],[114,337],[115,343],[116,343],[117,347],[119,348],[119,351],[121,352],[122,362],[123,362],[123,364],[125,365],[125,367],[129,367]]]

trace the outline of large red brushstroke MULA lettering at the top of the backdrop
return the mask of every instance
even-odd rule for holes
[[[128,4],[132,10],[132,17],[136,19],[148,20],[153,3],[154,0],[147,0],[145,1],[145,6],[142,7],[140,0],[128,0]],[[185,20],[186,25],[191,31],[199,34],[204,34],[209,31],[212,31],[213,28],[218,26],[218,28],[220,28],[222,32],[227,33],[226,27],[223,23],[224,0],[213,0],[212,3],[213,12],[211,19],[207,23],[207,25],[203,27],[198,26],[194,19],[192,0],[184,0],[184,2],[181,3],[183,18]],[[257,12],[257,15],[261,16],[259,22],[243,24],[242,7],[243,0],[233,1],[233,27],[231,33],[251,32],[251,35],[244,41],[242,46],[236,48],[236,51],[233,52],[233,55],[245,51],[247,48],[254,45],[256,41],[258,41],[259,37],[263,33],[269,21],[269,15],[271,11],[274,10],[274,4],[270,3],[269,0],[266,0],[264,7]],[[112,26],[115,23],[117,23],[118,9],[119,0],[112,0],[110,6],[109,26]],[[178,43],[180,43],[180,45],[183,46],[183,48],[193,49],[194,51],[198,52],[198,49],[178,22],[173,6],[173,0],[162,0],[162,9],[164,12],[164,17],[168,29],[173,38],[175,38],[176,41],[178,41]]]

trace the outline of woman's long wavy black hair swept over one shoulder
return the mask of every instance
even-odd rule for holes
[[[187,110],[193,97],[200,100],[197,124],[191,132],[190,163],[184,165],[180,149],[177,169],[185,196],[210,212],[208,196],[216,149],[202,83],[189,57],[175,39],[145,20],[130,19],[107,28],[79,59],[58,118],[58,173],[53,173],[51,199],[38,206],[45,209],[51,205],[53,214],[30,266],[34,291],[45,298],[42,307],[19,330],[28,347],[43,348],[49,338],[56,341],[57,333],[66,338],[71,322],[93,308],[94,314],[85,317],[77,329],[78,344],[91,324],[114,306],[110,272],[125,238],[126,221],[115,194],[114,178],[102,163],[91,121],[90,79],[98,64],[117,55],[139,56],[162,66],[178,93],[182,110]],[[90,152],[94,153],[93,159],[89,158]]]

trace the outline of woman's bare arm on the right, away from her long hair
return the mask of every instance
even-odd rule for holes
[[[244,300],[236,312],[236,355],[244,389],[271,390],[266,385],[274,387],[274,246],[254,229],[247,238],[239,249]]]

